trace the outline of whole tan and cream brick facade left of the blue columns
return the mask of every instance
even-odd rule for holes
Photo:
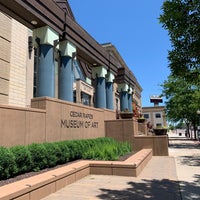
[[[0,12],[0,103],[30,106],[33,97],[33,52],[28,36],[32,31]]]

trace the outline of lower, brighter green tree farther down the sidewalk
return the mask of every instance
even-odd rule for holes
[[[196,138],[196,127],[198,125],[197,110],[200,107],[199,87],[191,85],[183,77],[170,75],[162,85],[162,95],[166,97],[166,113],[168,120],[173,122],[184,122],[189,131],[190,125],[194,127]]]

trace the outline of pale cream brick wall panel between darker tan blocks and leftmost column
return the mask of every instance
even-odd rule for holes
[[[29,60],[27,27],[12,19],[9,104],[30,105],[33,82],[33,62]],[[33,56],[32,56],[33,59]],[[29,69],[29,70],[27,70]],[[30,70],[31,69],[31,70]],[[31,87],[30,87],[31,85]],[[28,99],[27,100],[27,96]]]

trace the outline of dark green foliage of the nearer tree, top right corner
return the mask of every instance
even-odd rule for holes
[[[172,74],[200,86],[200,1],[166,0],[162,11],[159,20],[172,44],[168,53]]]

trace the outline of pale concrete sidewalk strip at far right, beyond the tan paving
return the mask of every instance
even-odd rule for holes
[[[182,200],[200,199],[200,143],[171,138],[169,154],[176,161]]]

